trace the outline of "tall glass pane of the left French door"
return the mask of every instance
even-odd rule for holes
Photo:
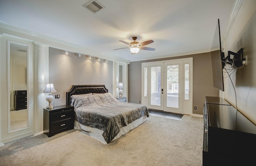
[[[161,66],[151,67],[151,105],[161,105]]]

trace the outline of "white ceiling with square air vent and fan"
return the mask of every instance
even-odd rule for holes
[[[220,19],[223,35],[235,0],[0,0],[0,22],[130,61],[208,52]],[[154,40],[132,55],[131,36]]]

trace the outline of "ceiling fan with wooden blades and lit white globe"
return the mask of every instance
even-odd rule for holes
[[[129,48],[130,51],[132,52],[132,54],[138,53],[140,51],[140,49],[149,50],[149,51],[154,51],[155,50],[154,48],[144,47],[144,45],[148,45],[150,43],[153,43],[154,42],[153,40],[147,40],[147,41],[143,41],[143,42],[139,43],[138,41],[136,41],[137,40],[136,36],[132,37],[132,40],[134,40],[134,41],[132,41],[130,43],[128,43],[126,41],[122,41],[122,40],[119,40],[119,41],[121,41],[122,43],[130,45],[130,47],[125,47],[125,48]],[[118,48],[118,49],[124,49],[124,48]],[[113,50],[117,50],[117,49],[113,49]]]

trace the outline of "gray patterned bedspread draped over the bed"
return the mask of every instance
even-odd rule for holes
[[[73,100],[76,120],[85,126],[103,130],[102,136],[107,143],[123,126],[145,115],[149,117],[146,106],[120,102],[111,93],[79,96]]]

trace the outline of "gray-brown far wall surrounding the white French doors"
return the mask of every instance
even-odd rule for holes
[[[187,57],[193,57],[193,114],[203,115],[205,96],[219,96],[219,91],[213,88],[210,53],[131,62],[128,74],[129,102],[138,103],[139,100],[141,101],[141,63]],[[194,110],[194,106],[197,107],[196,110]]]

